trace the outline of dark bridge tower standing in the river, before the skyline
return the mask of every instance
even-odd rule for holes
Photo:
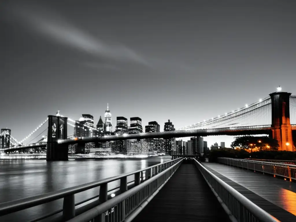
[[[68,160],[68,145],[58,144],[59,139],[67,139],[67,117],[49,115],[46,161]]]

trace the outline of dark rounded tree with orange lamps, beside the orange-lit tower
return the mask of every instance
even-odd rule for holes
[[[238,136],[231,143],[233,149],[278,150],[279,142],[268,136]]]

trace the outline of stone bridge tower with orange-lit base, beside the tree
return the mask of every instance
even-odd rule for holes
[[[271,130],[272,138],[279,141],[280,151],[292,151],[292,126],[290,124],[291,93],[275,92],[271,97]]]

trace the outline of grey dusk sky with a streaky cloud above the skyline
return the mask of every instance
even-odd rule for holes
[[[293,0],[1,1],[0,127],[21,140],[57,110],[109,103],[175,128],[295,92]],[[72,129],[68,129],[72,134]],[[208,146],[229,137],[209,137]]]

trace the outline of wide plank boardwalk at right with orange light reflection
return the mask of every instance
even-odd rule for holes
[[[218,164],[204,166],[280,221],[296,221],[296,183]]]

